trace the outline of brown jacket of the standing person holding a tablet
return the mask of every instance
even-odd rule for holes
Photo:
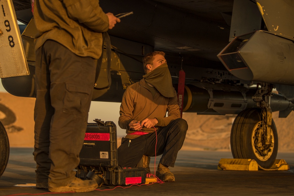
[[[78,56],[101,56],[101,32],[108,30],[109,21],[98,0],[35,0],[34,20],[35,50],[52,39]]]

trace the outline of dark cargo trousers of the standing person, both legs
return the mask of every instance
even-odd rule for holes
[[[75,177],[86,132],[97,61],[53,40],[36,51],[36,182],[66,186]]]

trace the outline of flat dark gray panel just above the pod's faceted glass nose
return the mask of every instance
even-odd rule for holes
[[[261,16],[252,1],[234,0],[229,41],[252,31],[260,30]]]

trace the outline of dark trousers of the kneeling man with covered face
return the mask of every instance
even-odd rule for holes
[[[143,155],[151,157],[162,155],[159,163],[174,167],[178,151],[182,148],[188,124],[186,120],[178,118],[161,127],[156,133],[148,133],[138,138],[122,138],[118,148],[118,165],[135,167]],[[157,139],[156,139],[157,138]],[[156,144],[157,140],[157,144]]]

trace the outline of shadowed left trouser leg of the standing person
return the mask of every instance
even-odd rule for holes
[[[50,101],[50,73],[43,46],[36,51],[35,88],[36,103],[34,109],[36,167],[36,187],[48,188],[48,175],[51,167],[49,159],[49,132],[54,108]]]

